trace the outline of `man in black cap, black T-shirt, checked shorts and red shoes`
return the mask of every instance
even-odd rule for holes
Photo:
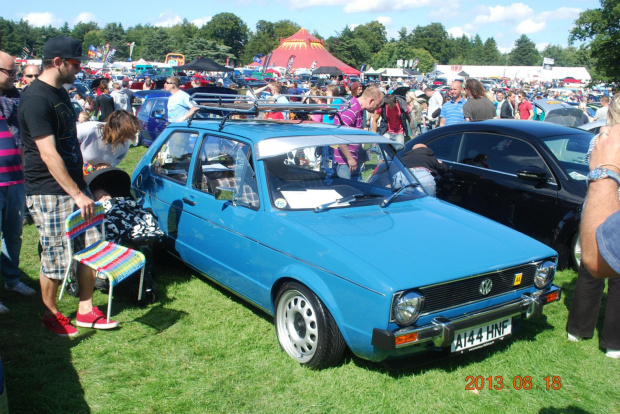
[[[64,234],[65,219],[81,209],[82,217],[92,218],[94,201],[82,175],[83,159],[76,133],[75,112],[69,94],[62,87],[73,83],[80,72],[82,45],[75,39],[58,36],[43,46],[43,72],[22,94],[19,126],[25,148],[26,203],[39,230],[41,271],[39,281],[45,311],[43,326],[63,336],[77,335],[69,320],[56,307],[59,282],[71,264],[69,241]],[[99,239],[96,229],[78,237],[75,248]],[[81,239],[81,240],[80,240]],[[80,303],[77,326],[111,329],[115,321],[92,305],[95,273],[78,265]]]

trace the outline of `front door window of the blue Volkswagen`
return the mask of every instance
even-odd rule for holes
[[[258,209],[260,201],[252,147],[228,138],[208,135],[199,151],[200,162],[192,186],[202,192],[214,194],[219,188],[232,188],[236,202]]]

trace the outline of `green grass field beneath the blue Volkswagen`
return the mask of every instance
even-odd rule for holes
[[[143,152],[132,148],[122,167]],[[36,229],[25,227],[20,267],[39,290],[36,244]],[[119,296],[119,329],[80,328],[71,340],[41,327],[40,297],[0,287],[12,310],[0,317],[10,412],[620,413],[620,360],[605,357],[596,338],[566,340],[573,271],[556,277],[562,300],[509,341],[397,371],[350,353],[335,368],[304,369],[280,350],[269,316],[174,259],[159,258],[157,275],[157,303]],[[94,302],[105,306],[107,296],[95,292]],[[59,308],[74,318],[77,299]],[[469,376],[483,389],[466,390]],[[504,388],[489,389],[488,377]]]

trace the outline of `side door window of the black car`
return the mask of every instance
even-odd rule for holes
[[[494,134],[465,134],[460,162],[515,175],[524,167],[538,167],[548,172],[531,144]]]

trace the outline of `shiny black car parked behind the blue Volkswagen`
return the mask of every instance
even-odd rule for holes
[[[579,221],[592,137],[547,122],[495,119],[434,129],[399,154],[426,144],[449,167],[438,180],[438,198],[551,246],[560,268],[567,268],[581,260]]]

